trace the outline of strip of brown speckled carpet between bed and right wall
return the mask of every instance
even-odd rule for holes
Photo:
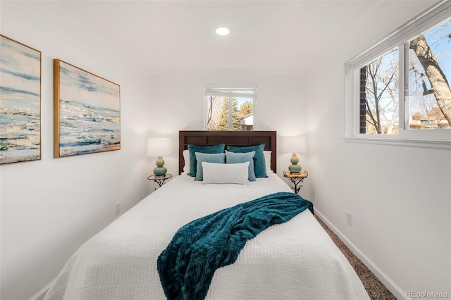
[[[362,283],[364,284],[364,287],[366,289],[366,292],[368,292],[369,297],[371,299],[393,299],[396,300],[396,297],[393,296],[393,294],[382,284],[381,281],[378,280],[378,278],[369,270],[369,268],[366,268],[366,265],[362,263],[362,261],[355,256],[352,251],[343,243],[335,233],[332,232],[332,230],[327,227],[327,225],[318,218],[317,215],[316,219],[319,221],[319,223],[324,227],[326,232],[330,235],[333,242],[338,246],[338,249],[342,251],[343,254],[345,254],[348,261],[350,261],[352,267],[354,268],[357,275],[359,275],[360,280],[362,280]]]

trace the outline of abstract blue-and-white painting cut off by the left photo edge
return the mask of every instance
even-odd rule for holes
[[[41,51],[0,35],[0,164],[41,159]]]

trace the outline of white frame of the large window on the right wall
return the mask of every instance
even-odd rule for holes
[[[404,106],[405,92],[407,89],[405,78],[408,72],[408,53],[407,42],[431,29],[435,25],[450,19],[451,1],[442,0],[435,6],[417,15],[409,22],[397,28],[380,42],[374,44],[362,54],[350,59],[345,63],[345,99],[346,99],[346,123],[345,123],[345,141],[346,142],[365,142],[376,144],[390,144],[402,146],[416,146],[435,149],[451,149],[451,130],[433,129],[433,130],[409,130],[407,123],[409,120],[409,111]],[[397,135],[367,135],[359,132],[360,125],[360,69],[368,65],[374,59],[383,56],[383,54],[395,48],[399,49],[399,133]],[[404,88],[403,88],[404,87]],[[407,100],[406,100],[407,101]]]

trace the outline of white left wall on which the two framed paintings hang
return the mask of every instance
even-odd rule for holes
[[[149,192],[147,78],[54,1],[2,1],[1,34],[42,51],[42,160],[1,165],[1,299],[30,299],[82,242]],[[53,59],[121,85],[121,150],[53,158]]]

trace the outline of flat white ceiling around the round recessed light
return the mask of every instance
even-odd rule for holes
[[[385,1],[62,1],[147,69],[302,69]],[[230,35],[218,36],[216,27]]]

